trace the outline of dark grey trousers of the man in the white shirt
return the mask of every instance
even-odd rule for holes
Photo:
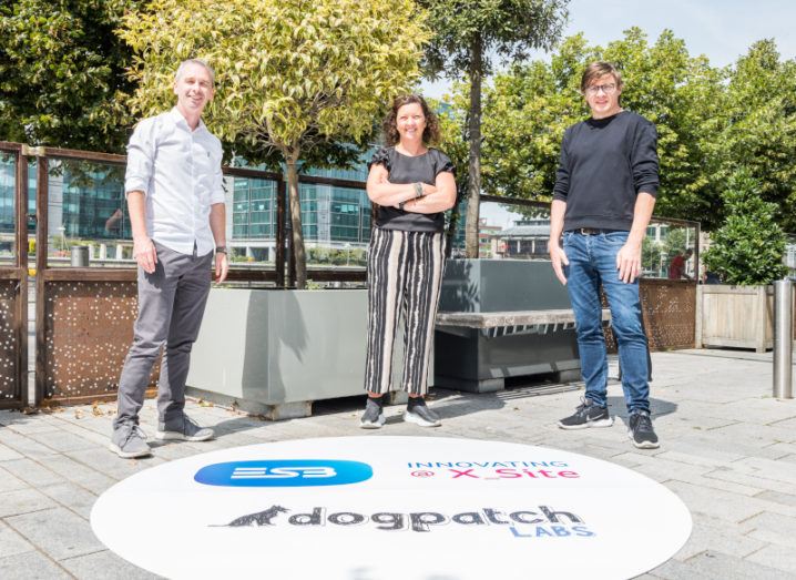
[[[119,379],[114,430],[139,423],[152,366],[163,353],[157,384],[161,421],[181,417],[185,407],[185,379],[191,347],[198,336],[211,285],[211,252],[192,256],[155,244],[157,264],[152,274],[139,267],[139,317],[135,336]]]

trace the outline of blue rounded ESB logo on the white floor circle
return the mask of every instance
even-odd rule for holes
[[[228,461],[203,467],[194,480],[224,487],[345,486],[370,479],[374,470],[359,461],[335,459],[276,459]]]

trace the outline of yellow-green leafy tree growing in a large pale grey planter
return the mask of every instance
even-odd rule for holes
[[[419,78],[425,13],[409,0],[379,10],[370,0],[159,0],[151,8],[129,13],[121,33],[135,53],[134,109],[165,110],[176,64],[204,58],[217,72],[207,126],[227,155],[276,157],[289,197],[297,289],[213,288],[188,385],[275,418],[363,393],[366,291],[303,289],[298,169],[345,164],[367,147],[374,120]]]

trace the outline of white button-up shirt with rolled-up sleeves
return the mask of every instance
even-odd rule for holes
[[[147,235],[203,256],[215,247],[210,206],[224,203],[222,147],[202,121],[195,131],[176,108],[144,119],[127,145],[124,191],[145,194]]]

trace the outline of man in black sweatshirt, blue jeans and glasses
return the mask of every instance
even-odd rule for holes
[[[639,448],[659,446],[650,419],[646,335],[641,319],[641,244],[657,194],[655,126],[620,105],[622,77],[594,62],[581,91],[592,116],[570,126],[561,144],[550,214],[550,257],[567,285],[578,329],[585,396],[562,429],[610,427],[608,359],[602,330],[602,286],[619,344],[629,437]],[[560,245],[563,233],[563,248]]]

